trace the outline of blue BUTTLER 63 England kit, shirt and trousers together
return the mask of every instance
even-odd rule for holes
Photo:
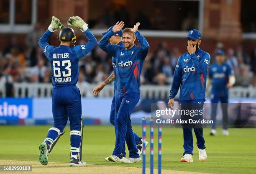
[[[97,40],[89,29],[84,31],[88,42],[78,46],[51,46],[47,42],[52,32],[47,30],[38,44],[51,64],[52,74],[52,113],[54,126],[49,129],[45,142],[54,147],[59,137],[64,134],[67,120],[70,121],[71,154],[82,157],[82,105],[81,95],[76,86],[79,75],[78,61],[89,53],[96,45]],[[47,145],[48,146],[48,145]],[[43,154],[43,151],[41,152]],[[40,157],[39,157],[40,158]],[[47,162],[42,161],[46,165]],[[45,164],[46,163],[46,164]]]

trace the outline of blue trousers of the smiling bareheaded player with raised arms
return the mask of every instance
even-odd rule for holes
[[[139,93],[115,94],[115,156],[121,154],[126,140],[130,157],[140,157],[131,125],[131,113],[139,99]]]

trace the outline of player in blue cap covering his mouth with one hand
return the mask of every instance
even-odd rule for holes
[[[187,52],[182,54],[174,71],[172,88],[170,91],[169,108],[174,107],[174,97],[180,88],[179,100],[182,110],[202,110],[205,102],[205,87],[207,68],[210,64],[210,55],[199,48],[201,44],[201,33],[197,30],[191,30],[187,34]],[[187,108],[189,107],[189,108]],[[186,118],[190,115],[181,115]],[[198,113],[193,120],[202,120],[203,115]],[[201,124],[192,125],[184,124],[183,128],[183,147],[184,154],[181,162],[193,162],[193,134],[194,128],[197,137],[197,147],[199,151],[199,160],[206,160],[205,139],[203,137],[203,129]]]

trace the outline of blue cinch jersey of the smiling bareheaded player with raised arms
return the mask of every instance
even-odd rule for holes
[[[127,92],[140,93],[141,90],[141,69],[143,61],[148,54],[149,45],[146,39],[139,31],[134,34],[138,38],[141,46],[134,45],[131,49],[126,50],[125,47],[119,45],[108,44],[108,40],[115,33],[113,30],[108,31],[99,42],[102,50],[115,57],[113,67],[116,68],[116,94],[124,94]]]

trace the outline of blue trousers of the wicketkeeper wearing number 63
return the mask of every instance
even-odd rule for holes
[[[58,128],[62,132],[69,119],[70,130],[81,131],[81,95],[76,85],[55,87],[52,90],[52,114],[54,128]],[[49,132],[47,137],[55,139],[57,135],[55,133],[54,136]],[[71,147],[79,148],[81,145],[81,136],[71,135],[70,145]],[[76,155],[78,152],[72,152],[72,154]]]

